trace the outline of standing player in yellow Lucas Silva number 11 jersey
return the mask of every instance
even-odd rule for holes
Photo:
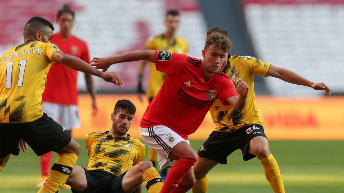
[[[80,152],[71,134],[42,113],[42,93],[51,65],[54,62],[65,64],[116,85],[123,84],[116,73],[100,72],[50,44],[53,30],[49,21],[31,18],[24,26],[24,43],[9,49],[0,58],[0,171],[11,154],[19,154],[20,139],[38,156],[56,151],[59,156],[42,192],[56,192],[61,188]],[[26,146],[23,144],[21,147]]]

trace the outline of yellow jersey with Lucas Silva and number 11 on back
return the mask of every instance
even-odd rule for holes
[[[58,51],[54,44],[28,41],[1,56],[0,123],[31,122],[43,115],[46,75]]]

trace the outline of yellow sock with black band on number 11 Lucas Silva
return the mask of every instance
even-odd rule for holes
[[[66,182],[69,174],[71,174],[77,159],[78,156],[75,154],[60,154],[49,172],[47,182],[45,183],[43,189],[40,189],[38,193],[56,193],[58,190],[60,190],[62,184]]]

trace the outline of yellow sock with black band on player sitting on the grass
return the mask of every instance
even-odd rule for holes
[[[148,190],[148,193],[159,193],[163,181],[161,180],[161,177],[154,167],[148,168],[144,173],[142,177],[144,183],[146,183],[146,188]]]

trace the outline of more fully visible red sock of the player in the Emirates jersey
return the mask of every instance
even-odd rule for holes
[[[172,192],[178,186],[180,181],[182,181],[186,172],[195,165],[196,161],[197,159],[193,157],[180,157],[167,174],[160,193]]]

